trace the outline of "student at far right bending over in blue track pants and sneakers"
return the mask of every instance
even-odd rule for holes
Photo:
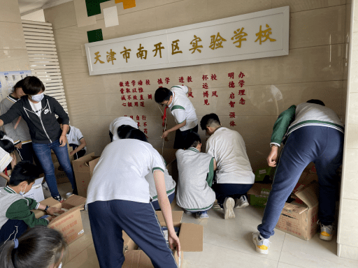
[[[268,165],[276,166],[278,147],[282,139],[285,147],[277,163],[262,224],[257,227],[259,232],[252,234],[257,252],[268,253],[268,239],[274,234],[273,229],[282,208],[310,162],[316,165],[320,185],[320,239],[332,239],[339,180],[337,169],[343,159],[343,137],[344,127],[341,119],[336,112],[325,107],[322,101],[310,100],[297,106],[292,105],[280,114],[273,126]]]

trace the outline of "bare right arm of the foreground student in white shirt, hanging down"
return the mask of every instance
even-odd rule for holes
[[[162,209],[164,221],[166,222],[166,226],[168,228],[169,245],[171,246],[171,249],[174,249],[176,247],[179,256],[180,241],[173,227],[173,216],[171,215],[171,204],[169,203],[168,196],[166,195],[164,173],[160,170],[155,170],[153,175],[155,181],[155,188],[157,189],[159,206]]]

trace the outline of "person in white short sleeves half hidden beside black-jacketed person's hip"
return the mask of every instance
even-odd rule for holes
[[[57,118],[57,122],[59,122],[59,127],[62,129],[62,119]],[[71,151],[70,156],[78,159],[86,154],[87,151],[87,143],[85,138],[83,137],[81,131],[74,126],[69,126],[69,131],[66,134],[67,141],[69,142],[69,146],[72,147],[73,151]]]

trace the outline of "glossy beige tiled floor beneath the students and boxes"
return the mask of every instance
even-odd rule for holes
[[[71,190],[70,184],[59,184],[59,192],[64,196]],[[45,191],[45,195],[49,193]],[[173,210],[181,210],[172,204]],[[92,244],[90,223],[87,211],[82,211],[85,235],[69,247],[64,268],[98,268],[96,252]],[[252,244],[252,232],[255,232],[263,215],[263,209],[247,207],[235,209],[236,218],[224,221],[221,210],[211,209],[210,218],[198,220],[183,215],[183,222],[204,226],[203,252],[185,252],[182,268],[206,267],[277,267],[277,268],[335,268],[358,267],[358,261],[337,257],[337,244],[334,241],[322,241],[316,234],[310,241],[304,241],[290,234],[275,230],[271,237],[270,253],[256,253]],[[80,246],[80,244],[85,246]],[[79,254],[80,253],[80,254]],[[77,255],[75,258],[73,255]]]

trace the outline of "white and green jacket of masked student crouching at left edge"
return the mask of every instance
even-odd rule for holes
[[[30,228],[36,225],[48,225],[44,218],[36,218],[31,209],[38,209],[40,203],[31,198],[24,198],[12,188],[0,188],[0,229],[8,220],[22,220]]]

